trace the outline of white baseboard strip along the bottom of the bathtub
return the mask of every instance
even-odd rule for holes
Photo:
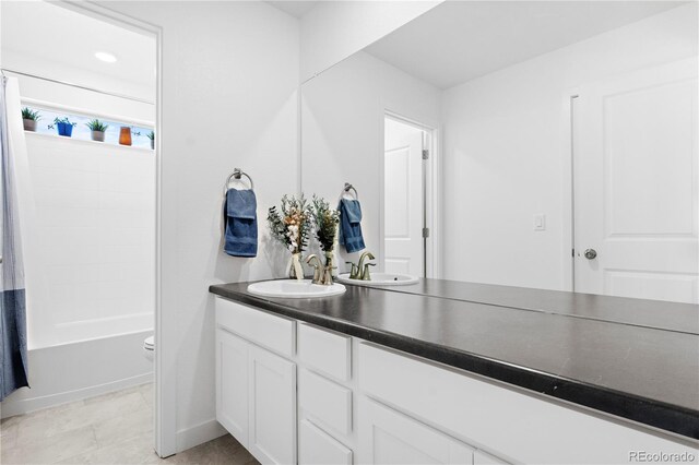
[[[0,406],[0,416],[2,418],[8,418],[15,415],[24,415],[31,412],[40,410],[43,408],[54,407],[56,405],[67,404],[69,402],[80,401],[87,397],[94,397],[96,395],[107,394],[114,391],[119,391],[149,382],[153,382],[153,373],[139,374],[137,377],[112,381],[96,386],[45,395],[43,397],[21,398],[17,401],[4,400]]]

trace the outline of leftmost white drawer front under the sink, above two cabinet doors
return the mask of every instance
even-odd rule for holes
[[[294,355],[293,320],[216,297],[216,324],[281,355]]]

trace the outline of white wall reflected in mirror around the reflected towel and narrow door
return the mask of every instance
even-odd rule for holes
[[[324,196],[334,206],[344,182],[354,184],[362,201],[367,250],[379,258],[379,200],[383,188],[383,117],[391,110],[437,128],[437,87],[365,52],[358,52],[304,84],[301,141],[304,192]],[[340,247],[337,265],[345,269]]]

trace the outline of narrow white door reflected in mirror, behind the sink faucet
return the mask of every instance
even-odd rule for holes
[[[424,276],[423,131],[384,121],[383,267]]]

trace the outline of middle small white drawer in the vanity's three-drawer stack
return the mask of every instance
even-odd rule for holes
[[[299,370],[298,403],[323,426],[341,434],[352,431],[352,391],[308,370]]]

